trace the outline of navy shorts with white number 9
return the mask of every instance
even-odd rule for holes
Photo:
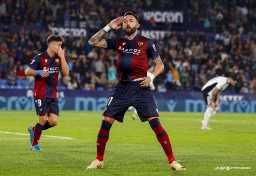
[[[48,112],[59,116],[59,103],[57,98],[35,98],[36,115],[45,115]]]

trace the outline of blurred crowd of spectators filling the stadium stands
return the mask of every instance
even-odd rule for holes
[[[144,20],[143,10],[157,7],[158,10],[184,10],[202,22],[205,30],[171,30],[171,34],[154,41],[165,66],[154,81],[156,91],[200,91],[202,85],[214,76],[235,73],[238,83],[229,91],[256,93],[256,8],[252,0],[236,3],[227,0],[161,2],[156,6],[159,1],[155,0],[0,1],[0,24],[5,24],[0,31],[0,86],[33,86],[33,80],[25,76],[24,70],[36,54],[47,49],[46,39],[52,26],[87,27],[93,35],[111,19],[131,10],[140,17],[141,28],[147,28],[154,26],[154,19]],[[13,33],[7,26],[9,24],[32,24],[44,29],[39,33],[22,28]],[[223,33],[223,38],[208,42],[204,31]],[[120,31],[112,30],[106,38],[119,35]],[[60,89],[112,90],[118,82],[117,53],[92,48],[87,44],[90,37],[83,34],[74,37],[72,32],[64,36],[63,47],[70,74],[59,76]],[[6,80],[5,84],[3,80]]]

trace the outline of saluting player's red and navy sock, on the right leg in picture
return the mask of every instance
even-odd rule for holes
[[[173,156],[173,151],[171,149],[170,139],[168,137],[168,134],[162,127],[159,118],[153,118],[152,120],[150,120],[149,125],[156,133],[157,140],[163,147],[164,152],[168,157],[169,163],[171,164],[173,161],[176,161],[175,157]]]

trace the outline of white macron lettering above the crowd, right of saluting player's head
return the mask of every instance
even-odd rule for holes
[[[154,20],[158,23],[170,22],[170,23],[183,23],[184,15],[183,11],[149,11],[143,12],[145,20],[150,20],[154,17]]]

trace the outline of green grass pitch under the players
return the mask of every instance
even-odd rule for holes
[[[29,136],[1,134],[0,175],[256,175],[256,115],[217,113],[210,121],[213,130],[201,130],[203,113],[160,112],[160,122],[171,140],[177,160],[187,171],[172,171],[167,157],[148,122],[114,122],[110,131],[102,169],[86,169],[96,156],[97,133],[102,112],[62,111],[59,124],[42,135],[44,151],[29,149]],[[0,111],[0,131],[27,133],[35,125],[34,111]],[[48,139],[43,139],[48,138]],[[214,167],[250,167],[251,169],[215,170]]]

